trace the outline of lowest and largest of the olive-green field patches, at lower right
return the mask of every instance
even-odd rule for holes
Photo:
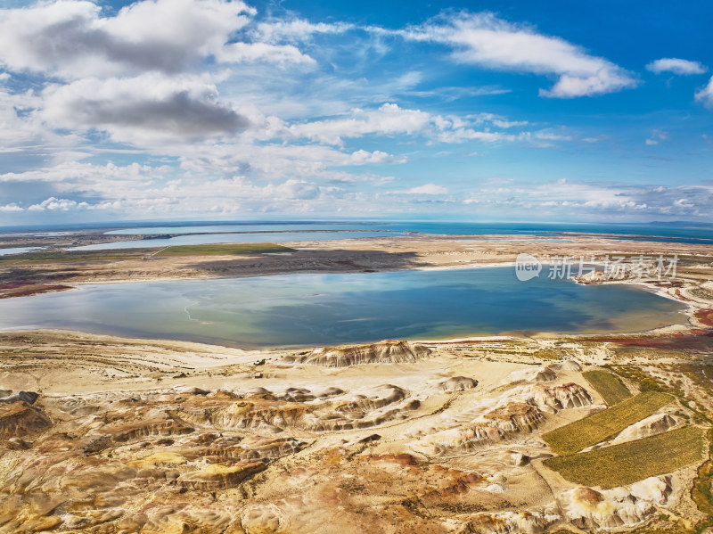
[[[545,465],[568,481],[609,489],[695,464],[703,458],[705,445],[703,429],[685,426],[642,440],[555,456]]]

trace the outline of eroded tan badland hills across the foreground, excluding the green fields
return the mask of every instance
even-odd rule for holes
[[[275,358],[198,385],[0,392],[0,533],[594,532],[642,525],[682,495],[680,473],[601,490],[539,462],[552,456],[543,431],[602,409],[577,362],[395,341],[309,357],[322,364]]]

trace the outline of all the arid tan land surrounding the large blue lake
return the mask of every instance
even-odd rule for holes
[[[0,291],[14,298],[81,283],[675,249],[675,280],[617,283],[687,309],[650,332],[301,349],[3,332],[0,532],[711,529],[713,246],[503,237],[288,242],[237,255],[72,254],[60,243],[3,259]]]

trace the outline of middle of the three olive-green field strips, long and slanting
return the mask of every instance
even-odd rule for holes
[[[547,432],[543,438],[558,455],[571,455],[613,438],[628,425],[656,413],[673,400],[658,391],[640,393],[603,412]]]

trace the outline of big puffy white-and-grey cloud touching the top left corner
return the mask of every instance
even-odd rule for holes
[[[114,16],[86,0],[0,10],[0,64],[65,79],[168,74],[201,62],[311,62],[291,45],[232,43],[256,14],[239,0],[142,0]]]

